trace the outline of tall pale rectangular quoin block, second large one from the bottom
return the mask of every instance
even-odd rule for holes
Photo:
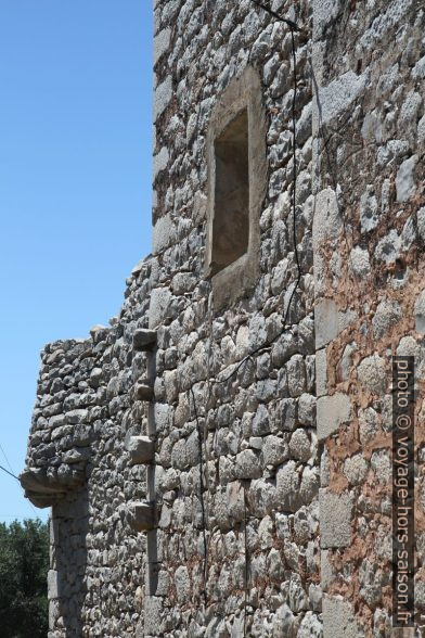
[[[322,549],[351,545],[352,497],[319,489],[320,546]]]

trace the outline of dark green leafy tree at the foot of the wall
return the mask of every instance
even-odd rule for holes
[[[0,635],[46,638],[49,533],[39,520],[0,523]]]

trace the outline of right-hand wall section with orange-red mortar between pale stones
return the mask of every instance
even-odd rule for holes
[[[325,638],[391,631],[391,357],[424,399],[423,8],[313,2],[313,222]],[[417,437],[416,460],[423,455]],[[423,591],[423,478],[416,476]],[[417,626],[422,623],[416,618]]]

